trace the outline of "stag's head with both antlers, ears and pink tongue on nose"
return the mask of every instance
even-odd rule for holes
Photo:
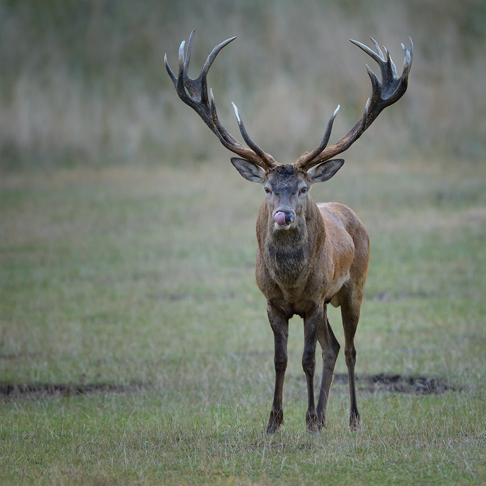
[[[264,152],[249,136],[241,120],[236,105],[233,103],[236,119],[240,128],[241,135],[245,141],[245,147],[235,139],[227,129],[221,124],[216,112],[216,104],[212,90],[207,87],[208,70],[216,58],[217,54],[227,44],[236,37],[231,37],[217,45],[209,54],[204,64],[201,74],[196,79],[191,79],[188,75],[189,62],[191,59],[192,31],[184,57],[183,41],[179,48],[179,69],[175,76],[167,62],[167,55],[164,58],[165,67],[174,82],[175,89],[181,100],[191,106],[208,127],[216,134],[221,143],[231,152],[239,157],[231,159],[232,164],[238,172],[248,181],[259,182],[266,192],[266,200],[271,208],[272,218],[277,229],[289,229],[297,224],[301,208],[305,204],[315,182],[329,180],[344,164],[343,159],[332,159],[334,156],[347,150],[363,132],[378,117],[384,108],[397,102],[408,84],[408,74],[413,58],[413,44],[410,39],[410,50],[402,44],[404,52],[404,63],[402,75],[398,76],[397,69],[391,60],[389,52],[385,49],[386,57],[374,39],[377,53],[366,47],[360,42],[351,42],[360,47],[364,52],[371,56],[380,66],[382,81],[380,82],[375,73],[366,65],[368,75],[371,79],[372,94],[368,99],[361,119],[351,128],[351,130],[338,142],[327,147],[330,139],[332,123],[337,115],[339,106],[331,116],[324,137],[312,152],[305,152],[298,160],[291,165],[278,164],[275,159]]]

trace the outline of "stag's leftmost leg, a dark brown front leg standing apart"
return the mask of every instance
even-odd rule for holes
[[[274,332],[275,341],[275,392],[270,411],[270,418],[266,429],[267,434],[275,434],[283,424],[283,381],[287,369],[287,342],[289,339],[289,319],[277,308],[267,306],[268,320]]]

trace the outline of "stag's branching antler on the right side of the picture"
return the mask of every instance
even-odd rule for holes
[[[305,152],[302,156],[300,156],[297,162],[293,164],[297,169],[310,169],[311,167],[320,164],[321,162],[325,162],[326,160],[329,160],[337,154],[347,150],[363,135],[363,132],[371,125],[371,123],[373,123],[373,121],[375,121],[383,109],[397,102],[405,93],[408,85],[408,74],[410,72],[410,67],[412,66],[412,58],[414,55],[414,45],[412,43],[412,39],[410,39],[410,51],[408,51],[403,44],[401,45],[404,60],[403,71],[400,77],[397,74],[397,69],[395,68],[395,64],[393,64],[388,50],[383,47],[386,52],[385,59],[378,43],[373,38],[371,38],[371,40],[373,41],[373,44],[375,44],[378,54],[373,52],[369,47],[366,47],[361,42],[351,40],[353,44],[356,44],[359,48],[371,56],[379,64],[382,71],[382,82],[380,82],[376,77],[376,74],[366,64],[366,69],[368,70],[368,75],[371,79],[372,94],[371,98],[368,98],[368,101],[366,102],[363,116],[341,140],[326,148],[330,138],[332,122],[334,121],[334,118],[339,110],[338,106],[328,122],[326,133],[324,134],[321,144],[311,153]]]

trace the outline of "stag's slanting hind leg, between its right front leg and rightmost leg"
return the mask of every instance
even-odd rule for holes
[[[324,427],[326,425],[326,408],[333,378],[332,375],[340,349],[327,318],[326,304],[324,304],[324,318],[317,334],[317,340],[322,348],[322,379],[316,415],[319,426]]]

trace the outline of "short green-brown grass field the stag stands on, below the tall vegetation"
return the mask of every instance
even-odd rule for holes
[[[286,421],[266,437],[259,185],[226,159],[2,178],[0,482],[483,485],[485,187],[484,165],[464,160],[349,157],[314,186],[371,237],[356,338],[363,427],[349,432],[336,379],[328,427],[305,433],[294,318]],[[343,343],[339,312],[330,322]]]

